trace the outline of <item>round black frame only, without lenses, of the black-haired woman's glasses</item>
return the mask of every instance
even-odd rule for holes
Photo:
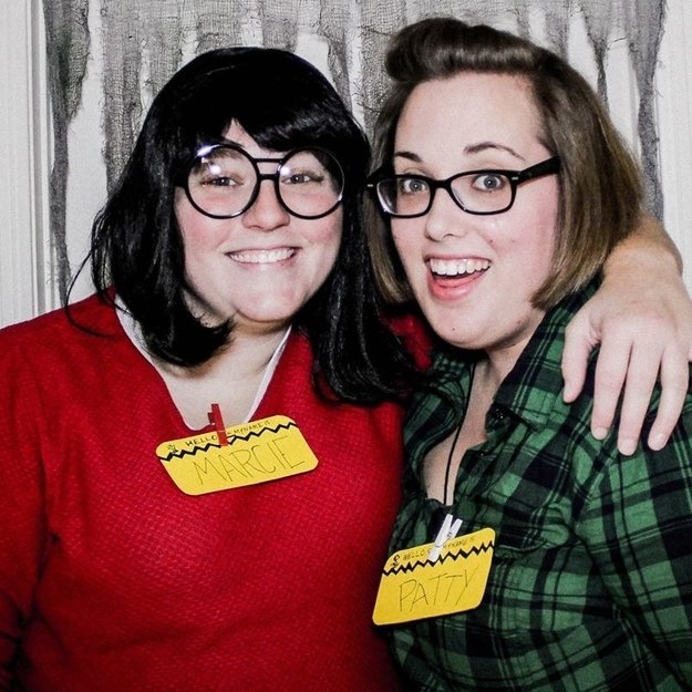
[[[255,189],[252,190],[252,194],[250,195],[250,198],[248,199],[248,203],[239,211],[234,211],[233,214],[210,214],[209,211],[205,211],[205,209],[203,209],[193,199],[193,195],[189,192],[189,176],[195,165],[199,162],[199,159],[203,156],[208,156],[211,152],[215,152],[221,148],[233,149],[235,152],[239,152],[240,154],[242,154],[242,156],[245,156],[252,164],[252,168],[255,169],[255,175],[257,176],[257,183],[255,185]],[[283,197],[281,196],[281,189],[279,187],[280,186],[279,173],[281,171],[281,166],[283,166],[283,164],[291,156],[296,155],[298,152],[321,152],[322,154],[330,156],[334,161],[337,166],[339,166],[339,173],[341,174],[341,192],[339,193],[337,202],[327,211],[323,211],[322,214],[319,214],[318,216],[306,216],[303,214],[297,214],[286,204],[286,202],[283,202]],[[273,173],[261,173],[258,164],[277,164],[277,168]],[[257,200],[257,197],[259,196],[259,186],[262,184],[264,180],[273,180],[273,188],[275,188],[277,199],[279,204],[281,205],[281,207],[283,207],[283,209],[286,209],[291,216],[295,216],[296,218],[308,219],[308,220],[319,219],[319,218],[329,216],[343,200],[343,190],[345,188],[345,175],[343,173],[343,167],[341,166],[341,163],[331,152],[319,146],[299,146],[299,147],[291,149],[290,152],[281,156],[280,158],[273,158],[273,157],[272,158],[265,158],[265,157],[255,158],[254,156],[250,156],[250,154],[248,154],[241,146],[238,146],[237,144],[233,144],[230,142],[219,142],[217,144],[205,144],[204,146],[199,147],[197,152],[195,153],[195,155],[192,157],[186,171],[187,173],[183,182],[183,188],[185,189],[185,195],[187,196],[187,199],[193,205],[193,207],[197,209],[197,211],[199,211],[199,214],[203,214],[204,216],[207,216],[209,218],[215,218],[215,219],[236,218],[237,216],[245,214]]]

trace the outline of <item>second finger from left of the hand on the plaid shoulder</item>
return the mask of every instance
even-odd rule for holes
[[[606,341],[599,351],[591,412],[591,434],[597,440],[603,440],[612,425],[627,378],[630,348],[618,348],[613,341]]]

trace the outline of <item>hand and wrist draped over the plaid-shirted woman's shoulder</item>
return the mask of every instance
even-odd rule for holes
[[[590,351],[600,343],[591,430],[608,433],[620,405],[618,445],[637,448],[657,380],[658,415],[648,435],[652,450],[670,437],[683,405],[692,360],[692,300],[681,276],[680,252],[651,216],[610,254],[600,290],[567,329],[562,359],[565,399],[581,391]]]

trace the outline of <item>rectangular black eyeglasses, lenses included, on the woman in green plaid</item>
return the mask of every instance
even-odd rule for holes
[[[560,159],[554,156],[524,171],[465,171],[444,180],[424,175],[385,175],[380,171],[371,176],[368,187],[374,189],[382,211],[396,218],[427,214],[440,188],[468,214],[502,214],[514,204],[519,185],[559,169]]]

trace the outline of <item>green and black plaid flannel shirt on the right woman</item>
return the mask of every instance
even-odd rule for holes
[[[546,316],[487,441],[463,457],[453,513],[466,533],[495,529],[489,580],[472,611],[390,628],[412,690],[692,690],[692,396],[662,452],[623,457],[614,434],[591,437],[592,368],[571,405],[560,372],[588,295]],[[458,425],[472,376],[469,358],[437,354],[413,402],[392,550],[433,540],[446,514],[425,497],[422,464]]]

